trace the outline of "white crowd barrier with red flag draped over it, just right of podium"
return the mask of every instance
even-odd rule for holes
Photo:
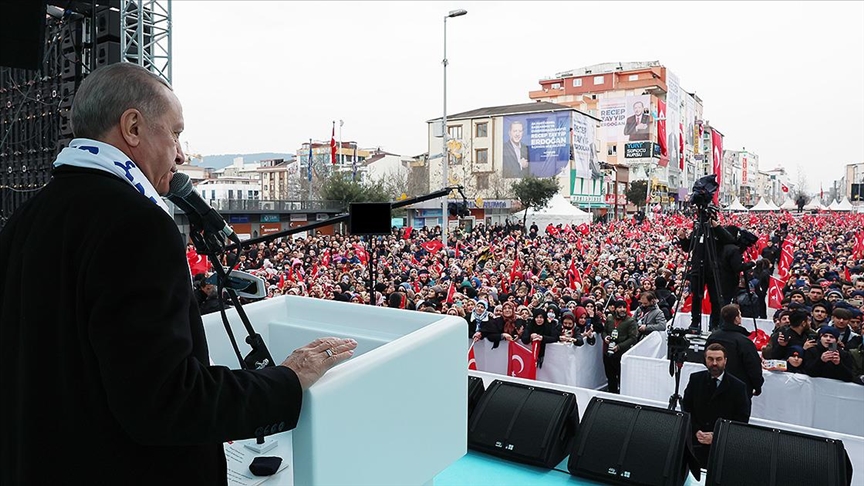
[[[500,346],[492,349],[492,342],[489,340],[477,341],[474,345],[477,370],[506,375],[508,346],[508,342],[502,341]],[[594,346],[547,344],[543,366],[537,369],[537,381],[590,389],[606,385],[606,373],[603,371],[603,345],[599,342],[599,337]]]

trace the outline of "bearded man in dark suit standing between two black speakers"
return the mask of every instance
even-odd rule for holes
[[[745,423],[750,420],[746,385],[726,373],[726,348],[717,343],[708,345],[705,348],[705,366],[707,370],[690,375],[681,402],[681,408],[690,413],[693,453],[703,468],[708,465],[717,419]]]

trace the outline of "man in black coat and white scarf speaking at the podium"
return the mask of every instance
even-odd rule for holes
[[[159,197],[185,160],[179,100],[118,63],[87,76],[71,117],[53,178],[0,232],[0,484],[227,484],[223,443],[295,427],[303,390],[356,342],[211,366]]]

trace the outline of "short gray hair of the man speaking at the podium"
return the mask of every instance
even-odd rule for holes
[[[121,62],[101,67],[88,75],[72,102],[72,132],[76,138],[100,139],[120,123],[123,113],[134,108],[147,120],[167,109],[164,79],[136,64]]]

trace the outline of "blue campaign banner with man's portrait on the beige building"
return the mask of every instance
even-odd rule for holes
[[[555,177],[570,162],[571,111],[504,117],[505,178]]]

